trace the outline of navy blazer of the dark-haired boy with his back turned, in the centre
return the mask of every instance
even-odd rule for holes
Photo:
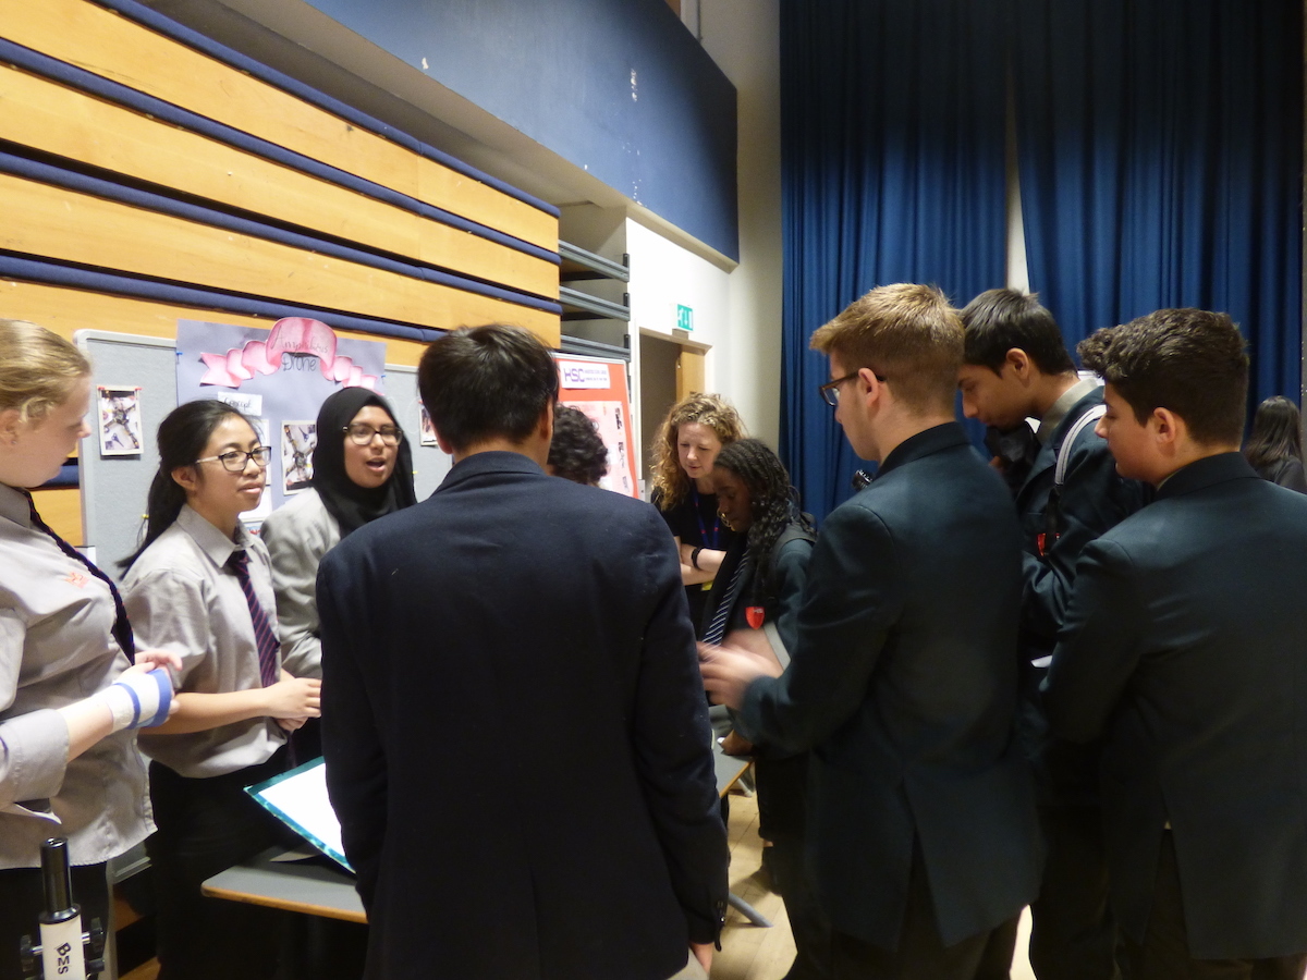
[[[657,511],[472,455],[322,562],[323,742],[367,976],[664,980],[725,832]]]

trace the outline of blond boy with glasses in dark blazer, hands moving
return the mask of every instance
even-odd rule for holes
[[[704,683],[746,737],[813,749],[833,975],[971,980],[1039,887],[1014,734],[1017,517],[954,419],[962,324],[938,290],[873,289],[812,345],[846,438],[881,465],[817,537],[789,668],[702,648]]]

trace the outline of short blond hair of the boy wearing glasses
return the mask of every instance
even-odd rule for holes
[[[818,327],[810,346],[838,355],[846,371],[869,367],[882,375],[911,412],[951,413],[963,338],[958,311],[936,286],[895,282]]]

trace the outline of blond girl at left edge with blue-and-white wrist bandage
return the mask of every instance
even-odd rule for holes
[[[77,348],[0,320],[0,980],[25,976],[18,943],[38,934],[47,838],[68,839],[84,926],[108,926],[106,864],[153,830],[132,729],[167,717],[171,686],[146,672],[179,666],[150,649],[131,666],[116,589],[29,493],[90,433],[90,389]]]

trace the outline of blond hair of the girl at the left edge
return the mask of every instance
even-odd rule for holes
[[[17,409],[22,422],[41,421],[90,375],[77,348],[26,320],[0,320],[0,412]]]

